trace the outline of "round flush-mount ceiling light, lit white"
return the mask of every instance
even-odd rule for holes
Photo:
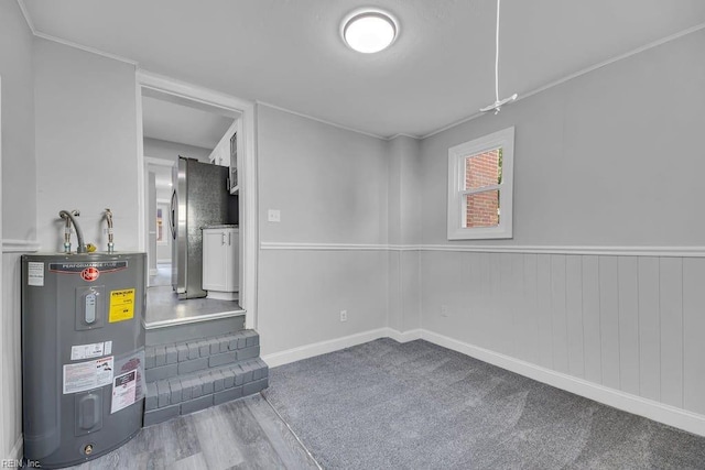
[[[351,50],[372,54],[394,42],[399,24],[391,14],[381,10],[356,10],[343,21],[340,34]]]

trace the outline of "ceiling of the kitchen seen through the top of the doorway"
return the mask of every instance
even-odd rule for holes
[[[142,97],[142,130],[145,138],[213,150],[231,124],[232,118]]]

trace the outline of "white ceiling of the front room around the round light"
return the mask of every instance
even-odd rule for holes
[[[19,0],[22,1],[22,0]],[[37,32],[144,69],[382,136],[425,135],[495,100],[491,0],[24,0]],[[348,50],[375,4],[401,33]],[[500,98],[705,23],[702,0],[505,0]]]

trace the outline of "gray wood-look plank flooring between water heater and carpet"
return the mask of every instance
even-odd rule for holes
[[[286,424],[253,395],[142,429],[74,469],[319,469]]]

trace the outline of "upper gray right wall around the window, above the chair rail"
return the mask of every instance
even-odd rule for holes
[[[513,124],[514,238],[487,244],[705,244],[704,45],[699,31],[425,139],[423,242],[447,243],[448,147]]]

